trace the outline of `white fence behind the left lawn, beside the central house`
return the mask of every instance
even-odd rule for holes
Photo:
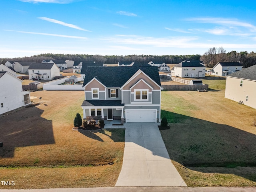
[[[61,78],[58,80],[50,81],[46,84],[43,84],[43,90],[84,90],[82,84],[80,85],[60,85],[65,82],[68,78]],[[81,77],[78,77],[78,81],[82,81]]]

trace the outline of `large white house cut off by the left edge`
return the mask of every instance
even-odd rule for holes
[[[22,90],[22,80],[9,72],[0,72],[0,114],[30,104],[30,92]]]

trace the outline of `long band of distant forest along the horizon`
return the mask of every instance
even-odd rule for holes
[[[213,67],[218,62],[241,62],[244,68],[250,67],[256,64],[256,53],[247,51],[236,52],[231,51],[226,53],[222,47],[210,48],[204,55],[127,55],[127,56],[101,56],[101,55],[86,55],[86,54],[40,54],[31,57],[24,58],[2,58],[1,63],[5,63],[7,60],[13,61],[28,61],[28,62],[42,62],[45,59],[52,60],[74,60],[74,61],[95,61],[102,62],[104,64],[116,64],[119,61],[130,61],[138,63],[162,62],[166,64],[177,64],[184,60],[200,60],[206,67]]]

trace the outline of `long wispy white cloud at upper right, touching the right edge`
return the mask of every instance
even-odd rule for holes
[[[256,26],[247,23],[247,22],[241,22],[237,19],[232,18],[211,18],[211,17],[201,17],[201,18],[188,18],[186,19],[188,21],[195,21],[199,23],[211,23],[211,24],[219,24],[224,26],[240,26],[249,28],[252,32],[256,32]]]

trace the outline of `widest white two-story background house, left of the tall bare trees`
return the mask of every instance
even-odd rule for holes
[[[183,61],[173,67],[172,76],[177,77],[204,77],[205,66],[201,62]]]

